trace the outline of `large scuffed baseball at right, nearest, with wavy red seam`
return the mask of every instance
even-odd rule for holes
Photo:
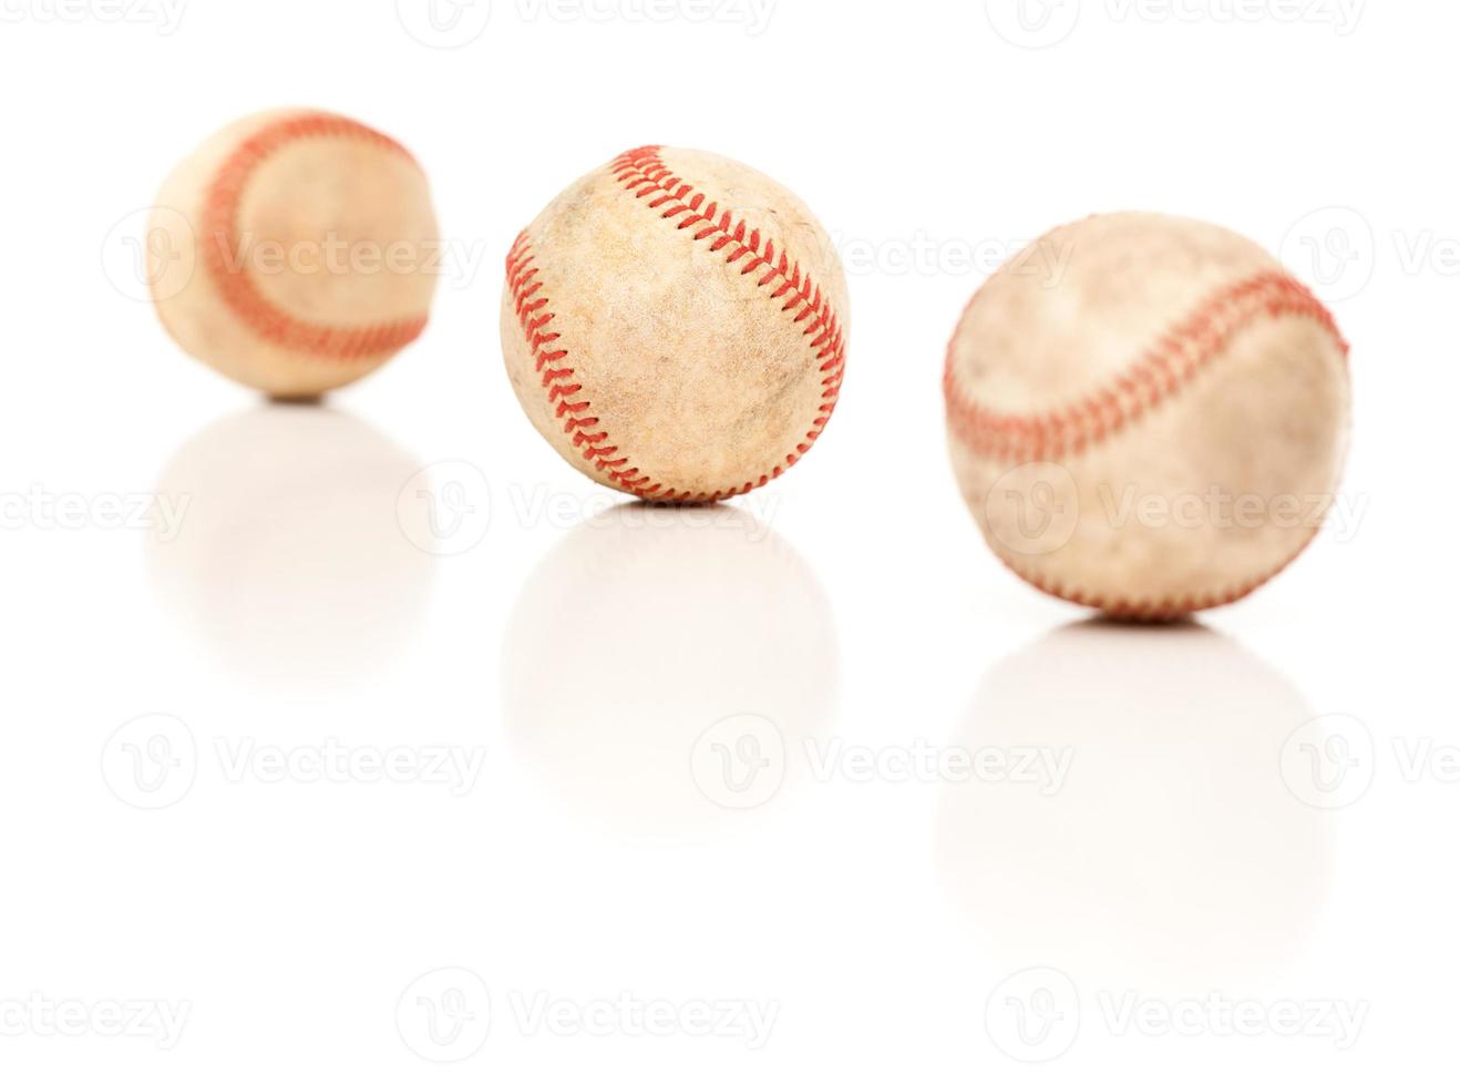
[[[1253,242],[1095,216],[1016,257],[949,347],[953,466],[984,536],[1047,593],[1162,619],[1275,577],[1334,496],[1348,344]]]

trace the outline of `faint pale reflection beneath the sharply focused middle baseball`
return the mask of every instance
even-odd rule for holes
[[[826,594],[769,527],[729,505],[625,504],[523,585],[504,709],[517,758],[564,806],[634,836],[696,836],[809,779],[837,673]]]

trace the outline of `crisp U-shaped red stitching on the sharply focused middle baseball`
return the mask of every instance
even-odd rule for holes
[[[816,362],[821,363],[822,400],[806,438],[797,442],[794,451],[785,454],[784,463],[777,463],[758,479],[714,493],[666,490],[663,483],[654,482],[629,464],[629,457],[620,452],[607,432],[602,431],[599,419],[593,416],[591,400],[580,398],[583,384],[574,381],[575,371],[564,363],[568,350],[559,342],[561,333],[548,327],[556,314],[548,309],[549,299],[543,293],[542,273],[533,263],[531,242],[523,232],[507,257],[507,283],[512,292],[517,320],[536,359],[536,369],[542,375],[543,388],[548,390],[548,401],[556,404],[555,415],[564,420],[564,432],[572,438],[574,447],[581,450],[583,458],[606,473],[615,485],[645,501],[718,502],[765,486],[806,455],[837,409],[842,372],[847,366],[847,342],[831,298],[822,293],[802,270],[800,263],[790,261],[784,247],[777,251],[775,242],[762,238],[759,229],[749,226],[743,219],[734,219],[729,209],[721,209],[717,201],[707,200],[704,193],[696,193],[680,178],[672,177],[660,159],[660,147],[648,146],[626,152],[607,168],[635,199],[648,200],[645,206],[658,212],[660,219],[680,219],[677,223],[680,231],[699,226],[692,236],[694,242],[714,238],[710,245],[711,253],[730,248],[726,263],[745,261],[740,274],[749,276],[765,269],[756,288],[775,285],[768,298],[785,299],[781,312],[794,309],[793,323],[806,324],[802,334],[810,339],[807,346],[816,352]]]

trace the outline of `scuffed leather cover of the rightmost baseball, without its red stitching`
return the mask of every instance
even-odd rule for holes
[[[1253,242],[1200,222],[1110,215],[1063,226],[1044,244],[1067,247],[1053,286],[1016,261],[975,296],[949,352],[959,396],[1019,415],[1044,415],[1098,394],[1215,292],[1280,266]],[[1113,517],[1124,493],[1174,504],[1213,488],[1254,495],[1332,496],[1346,451],[1345,349],[1313,320],[1259,317],[1188,384],[1083,451],[1022,473],[1025,502],[1079,509],[1070,540],[1047,555],[1010,549],[1004,501],[990,501],[1013,464],[975,452],[950,431],[964,496],[994,552],[1057,594],[1114,610],[1184,610],[1221,601],[1282,569],[1311,539],[1307,525],[1212,518],[1200,527]],[[1050,489],[1034,493],[1037,486]],[[1101,606],[1101,604],[1098,604]]]

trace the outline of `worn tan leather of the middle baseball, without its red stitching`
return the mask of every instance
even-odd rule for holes
[[[661,150],[686,184],[775,239],[832,298],[847,288],[810,210],[765,175],[694,150]],[[580,397],[619,455],[666,490],[712,495],[784,467],[806,442],[825,394],[816,350],[775,286],[742,274],[695,231],[680,231],[600,168],[529,226],[552,328]],[[502,299],[502,350],[523,409],[575,467],[615,486],[564,431],[517,317]],[[626,492],[629,488],[619,486]]]

